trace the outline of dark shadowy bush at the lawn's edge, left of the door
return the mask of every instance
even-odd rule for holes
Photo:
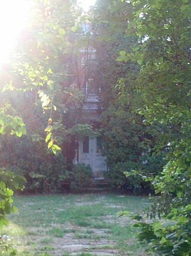
[[[44,140],[32,141],[29,137],[1,138],[0,161],[15,174],[23,175],[26,192],[56,193],[65,191],[69,171],[62,153],[48,151]]]

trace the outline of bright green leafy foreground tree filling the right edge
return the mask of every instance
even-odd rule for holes
[[[191,4],[189,0],[131,2],[134,15],[128,34],[138,40],[134,52],[124,53],[121,59],[141,65],[134,80],[142,103],[138,113],[144,115],[145,124],[159,122],[172,131],[161,134],[160,147],[167,150],[168,164],[153,180],[161,195],[153,214],[175,222],[170,227],[161,222],[141,223],[140,237],[163,255],[190,255]]]

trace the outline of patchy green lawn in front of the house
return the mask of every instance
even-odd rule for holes
[[[117,216],[119,210],[143,212],[149,204],[146,197],[23,195],[14,204],[18,212],[0,235],[9,237],[20,256],[96,256],[100,250],[106,255],[146,255],[130,219]]]

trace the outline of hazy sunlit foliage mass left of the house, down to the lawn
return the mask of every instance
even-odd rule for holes
[[[27,134],[20,140],[1,137],[0,158],[5,167],[26,177],[27,192],[65,191],[76,138],[93,132],[91,125],[78,124],[83,122],[84,100],[75,73],[80,15],[75,1],[34,1],[31,20],[2,77],[2,111],[10,115],[11,109],[14,119],[6,113],[5,122],[1,120],[7,127],[1,127],[8,132],[12,126],[11,134],[21,135],[26,134],[25,124]]]

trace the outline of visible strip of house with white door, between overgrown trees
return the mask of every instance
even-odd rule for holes
[[[86,30],[87,29],[87,30]],[[82,34],[90,31],[90,25],[82,25]],[[82,106],[82,119],[94,128],[99,127],[98,119],[103,109],[100,106],[99,94],[100,86],[96,84],[93,78],[93,68],[95,64],[96,49],[89,44],[80,50],[76,65],[76,77],[78,77],[78,85],[84,91],[84,104]],[[76,156],[74,163],[87,164],[91,166],[94,177],[103,177],[106,171],[106,157],[103,156],[103,145],[101,138],[97,135],[86,136],[84,140],[78,141],[76,148]]]

